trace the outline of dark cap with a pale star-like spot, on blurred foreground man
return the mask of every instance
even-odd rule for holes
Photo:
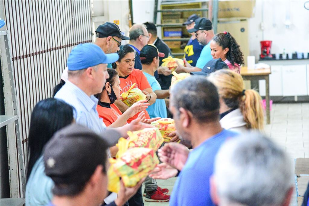
[[[107,150],[112,146],[107,140],[121,137],[115,132],[98,135],[78,124],[62,128],[44,147],[46,175],[56,184],[87,182],[98,165],[105,167]]]

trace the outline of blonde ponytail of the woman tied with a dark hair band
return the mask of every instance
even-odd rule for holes
[[[239,108],[247,128],[264,130],[264,112],[261,105],[261,96],[255,90],[245,90],[244,96],[239,99]]]

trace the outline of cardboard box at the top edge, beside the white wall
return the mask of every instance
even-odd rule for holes
[[[218,18],[254,17],[255,0],[219,1]]]

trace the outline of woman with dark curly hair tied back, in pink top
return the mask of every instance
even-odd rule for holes
[[[221,58],[231,70],[240,73],[240,65],[244,64],[243,53],[229,32],[216,34],[210,42],[210,50],[214,59]]]

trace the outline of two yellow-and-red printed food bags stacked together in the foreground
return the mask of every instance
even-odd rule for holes
[[[119,191],[120,177],[126,187],[133,187],[159,164],[155,152],[163,143],[163,137],[158,128],[145,128],[128,135],[128,139],[118,141],[117,159],[109,160],[108,190],[112,192]]]

